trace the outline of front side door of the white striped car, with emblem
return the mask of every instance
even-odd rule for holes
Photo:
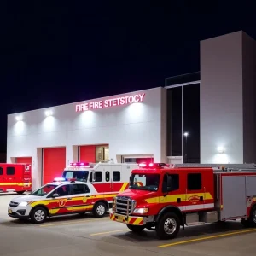
[[[73,212],[73,191],[70,184],[63,184],[49,195],[49,212],[51,214],[65,214]]]

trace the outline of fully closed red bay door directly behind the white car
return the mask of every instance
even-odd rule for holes
[[[61,177],[66,167],[66,148],[44,148],[43,180],[50,183],[55,177]]]

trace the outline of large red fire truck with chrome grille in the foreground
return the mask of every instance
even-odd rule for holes
[[[256,226],[255,170],[139,166],[131,173],[129,189],[113,198],[110,211],[111,220],[130,230],[155,230],[160,239],[168,239],[177,236],[180,226],[236,219]]]

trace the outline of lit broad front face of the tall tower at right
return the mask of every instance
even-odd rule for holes
[[[243,162],[241,35],[201,42],[201,163]]]

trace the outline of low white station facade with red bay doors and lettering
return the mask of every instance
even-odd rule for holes
[[[166,161],[166,89],[8,116],[7,162],[31,162],[38,186],[73,161]]]

